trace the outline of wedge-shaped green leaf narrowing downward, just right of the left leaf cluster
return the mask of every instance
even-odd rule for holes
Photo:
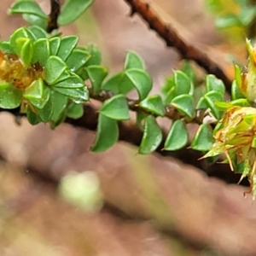
[[[98,95],[102,90],[102,82],[108,75],[108,70],[102,66],[91,65],[86,67],[94,95]]]

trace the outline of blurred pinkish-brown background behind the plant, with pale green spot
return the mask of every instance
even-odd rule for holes
[[[0,2],[0,34],[8,39],[26,23],[7,15],[12,0]],[[49,1],[37,2],[49,10]],[[205,4],[150,1],[232,78],[230,55],[245,63],[244,44],[216,30]],[[98,45],[109,73],[121,70],[127,50],[137,51],[159,92],[180,67],[179,56],[129,11],[123,0],[95,0],[61,31],[79,35],[81,45]],[[20,123],[0,113],[0,255],[256,255],[256,205],[243,197],[247,188],[172,157],[138,155],[127,143],[91,153],[93,131]]]

